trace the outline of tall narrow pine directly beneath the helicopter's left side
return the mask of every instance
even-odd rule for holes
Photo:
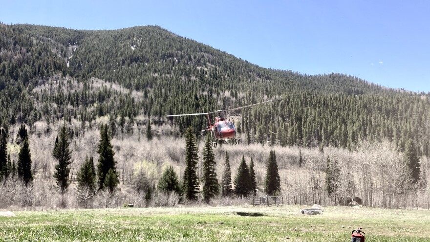
[[[209,203],[219,194],[219,183],[215,173],[215,155],[212,151],[211,137],[206,136],[203,148],[203,199]]]

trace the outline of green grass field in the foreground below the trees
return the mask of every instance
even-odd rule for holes
[[[22,211],[15,213],[17,218],[0,217],[0,241],[348,242],[358,227],[364,227],[369,242],[430,241],[429,211],[327,207],[323,215],[305,216],[303,208]]]

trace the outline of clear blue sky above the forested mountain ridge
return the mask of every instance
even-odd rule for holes
[[[18,4],[19,2],[19,4]],[[263,67],[430,91],[428,0],[0,0],[0,21],[74,29],[159,25]]]

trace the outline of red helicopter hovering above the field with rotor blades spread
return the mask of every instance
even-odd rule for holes
[[[188,113],[188,114],[173,114],[173,115],[166,115],[166,117],[175,117],[175,116],[188,116],[188,115],[207,115],[209,126],[206,126],[204,130],[202,130],[202,133],[204,132],[210,132],[211,133],[211,143],[212,146],[216,148],[216,146],[219,144],[219,146],[222,146],[223,144],[233,144],[237,145],[240,142],[240,139],[236,138],[236,127],[235,124],[225,119],[225,115],[228,111],[233,110],[239,110],[244,109],[252,106],[256,106],[258,104],[268,103],[272,102],[273,100],[261,102],[261,103],[255,103],[239,108],[234,109],[228,109],[228,110],[216,110],[213,112],[203,112],[203,113]],[[210,114],[215,114],[215,123],[211,123]]]

